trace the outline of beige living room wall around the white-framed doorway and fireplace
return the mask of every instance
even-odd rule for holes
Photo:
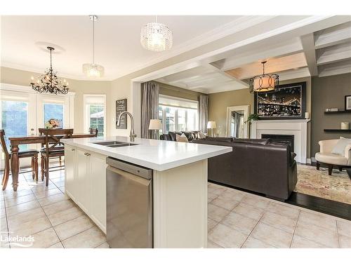
[[[303,81],[306,81],[306,111],[311,112],[311,77],[279,81],[279,84]],[[208,120],[216,121],[219,136],[225,136],[227,107],[240,105],[250,105],[250,113],[254,112],[253,94],[249,88],[208,95]],[[307,125],[307,158],[310,158],[310,124]]]

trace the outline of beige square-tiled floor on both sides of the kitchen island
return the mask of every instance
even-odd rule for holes
[[[31,235],[32,248],[107,248],[64,185],[62,170],[48,187],[21,174],[17,192],[0,194],[1,234]],[[351,222],[208,183],[208,248],[351,248]]]

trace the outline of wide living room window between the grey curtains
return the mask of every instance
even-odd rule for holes
[[[159,119],[162,123],[162,133],[198,130],[198,102],[196,100],[160,95]]]

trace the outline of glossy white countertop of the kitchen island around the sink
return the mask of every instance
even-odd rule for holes
[[[107,147],[92,142],[130,142],[129,137],[77,138],[61,140],[65,144],[135,163],[153,170],[168,170],[187,163],[208,159],[232,151],[232,147],[187,142],[135,138],[133,146]]]

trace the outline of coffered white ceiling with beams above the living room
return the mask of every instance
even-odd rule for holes
[[[260,62],[265,60],[265,73],[279,74],[281,81],[350,73],[351,22],[340,22],[333,27],[320,22],[315,28],[318,30],[311,27],[298,32],[300,35],[292,31],[291,37],[277,35],[233,49],[223,53],[220,60],[207,60],[198,67],[162,76],[157,81],[203,93],[248,88],[249,79],[262,74]]]

